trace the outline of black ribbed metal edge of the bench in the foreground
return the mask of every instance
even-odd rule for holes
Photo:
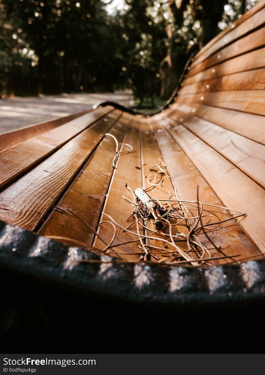
[[[78,262],[111,259],[0,221],[0,268],[43,285],[102,299],[185,306],[265,297],[265,260],[211,268]]]

